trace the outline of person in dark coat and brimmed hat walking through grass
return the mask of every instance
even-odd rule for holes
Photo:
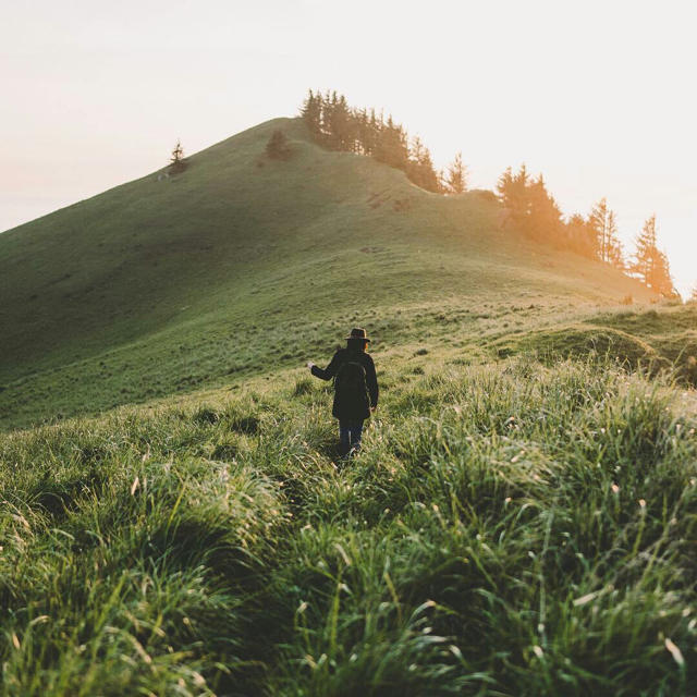
[[[322,370],[311,360],[307,367],[320,380],[334,379],[332,416],[339,419],[339,440],[342,455],[360,449],[363,424],[378,406],[378,378],[372,357],[366,351],[365,329],[354,328],[346,337],[346,347],[339,348]]]

